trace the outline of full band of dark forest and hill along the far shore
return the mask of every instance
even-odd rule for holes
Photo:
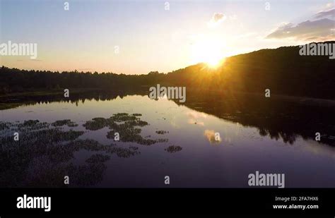
[[[199,63],[170,73],[146,75],[25,71],[2,66],[0,94],[64,88],[138,90],[160,83],[213,92],[264,93],[269,88],[271,94],[335,99],[335,60],[329,56],[300,56],[299,49],[261,49],[231,56],[218,68]]]

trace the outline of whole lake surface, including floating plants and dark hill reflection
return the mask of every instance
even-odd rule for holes
[[[0,186],[247,188],[259,171],[285,174],[286,188],[335,187],[333,107],[187,97],[97,96],[1,110]]]

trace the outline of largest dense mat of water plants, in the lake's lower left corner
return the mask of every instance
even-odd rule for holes
[[[20,140],[13,140],[14,131],[20,133]],[[71,178],[69,186],[94,186],[102,181],[107,169],[105,162],[111,155],[140,154],[134,146],[117,147],[78,139],[83,133],[64,131],[37,120],[6,123],[6,130],[0,131],[0,187],[64,187],[64,175]],[[72,161],[74,152],[79,150],[93,152],[93,155],[85,164],[76,165]]]

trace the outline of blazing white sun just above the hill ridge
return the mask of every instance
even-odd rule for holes
[[[222,43],[213,39],[202,39],[192,44],[192,62],[206,63],[210,68],[217,68],[223,63]]]

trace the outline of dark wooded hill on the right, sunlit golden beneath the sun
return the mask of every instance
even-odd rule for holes
[[[280,47],[231,56],[220,68],[197,64],[169,73],[167,81],[202,89],[264,93],[269,88],[281,95],[335,99],[335,59],[300,56],[299,50]]]

